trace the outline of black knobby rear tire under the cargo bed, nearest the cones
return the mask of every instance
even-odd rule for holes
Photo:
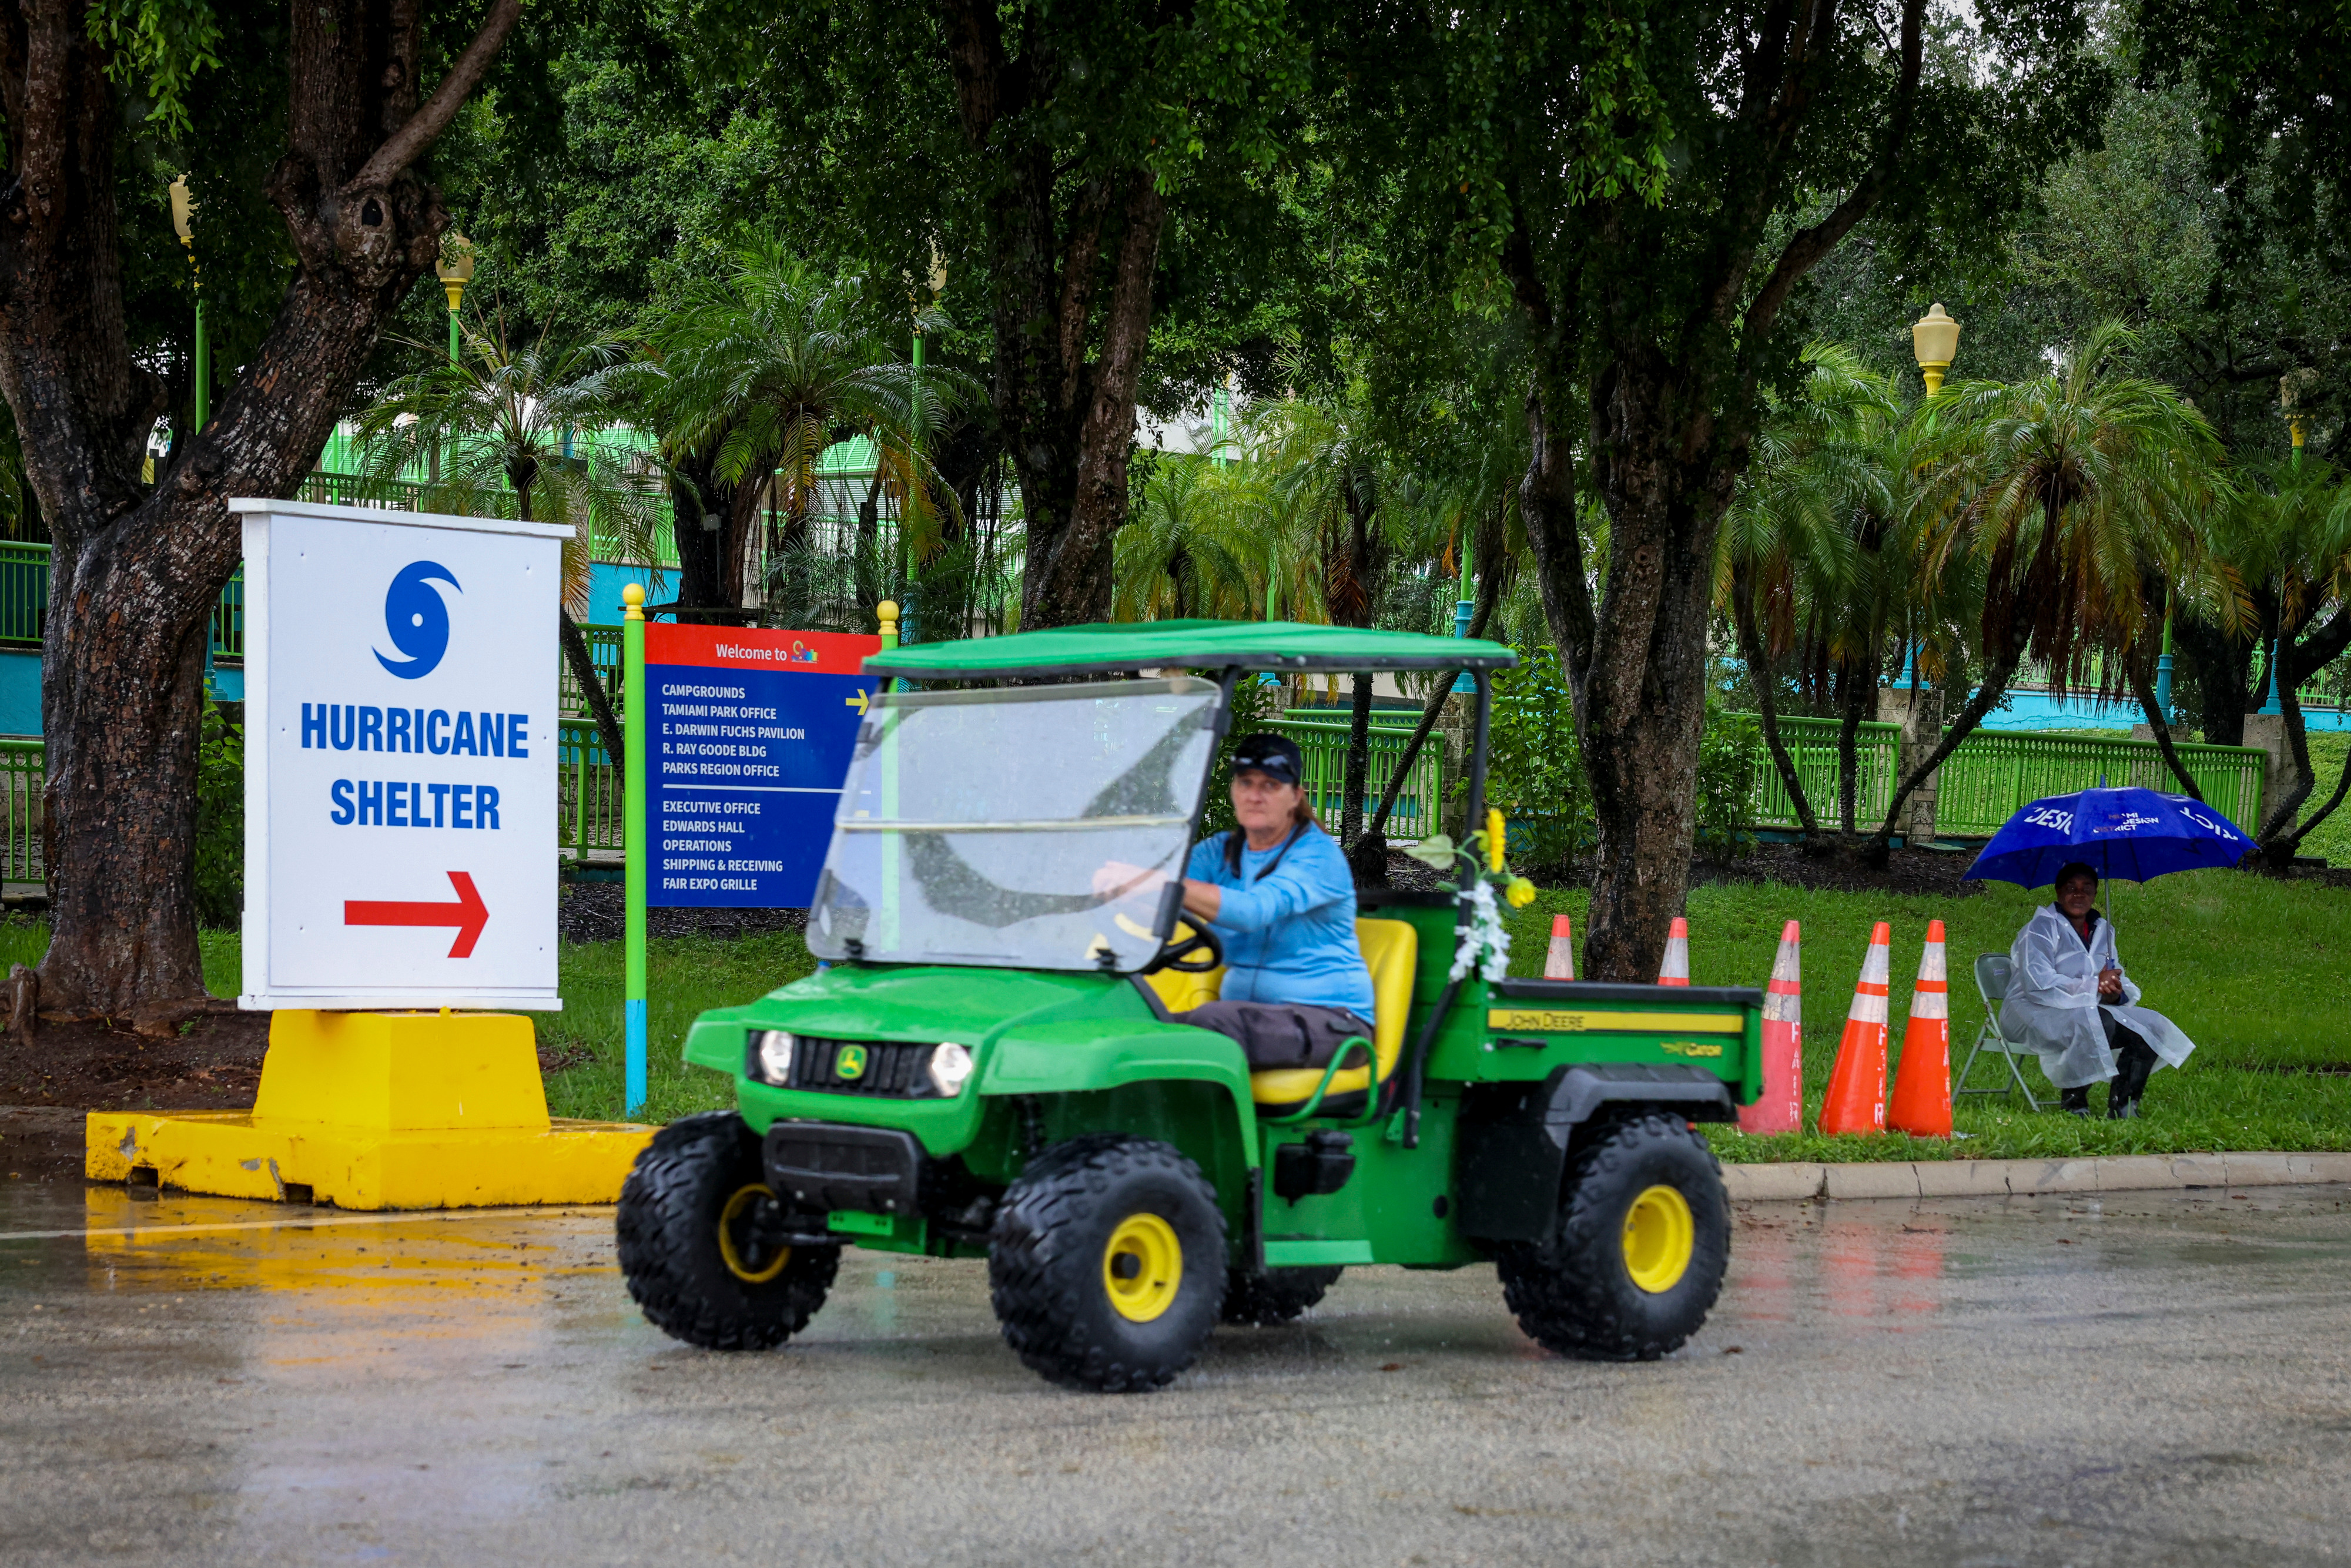
[[[1559,1220],[1542,1241],[1495,1255],[1502,1300],[1545,1349],[1587,1361],[1655,1361],[1697,1333],[1730,1265],[1730,1197],[1707,1140],[1681,1117],[1594,1128],[1568,1164]],[[1643,1291],[1625,1258],[1625,1218],[1648,1187],[1690,1206],[1690,1260],[1667,1291]]]

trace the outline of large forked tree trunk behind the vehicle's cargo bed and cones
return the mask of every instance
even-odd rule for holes
[[[1538,256],[1538,244],[1549,247],[1542,221],[1519,209],[1512,193],[1500,266],[1528,324],[1533,362],[1519,510],[1575,696],[1599,820],[1585,940],[1596,980],[1655,978],[1667,926],[1683,910],[1697,835],[1714,545],[1754,444],[1780,310],[1902,169],[1918,101],[1925,0],[1902,0],[1900,12],[1900,82],[1871,162],[1817,221],[1766,252],[1770,169],[1810,106],[1813,31],[1824,38],[1834,24],[1834,7],[1808,12],[1801,28],[1791,28],[1791,9],[1775,12],[1777,24],[1763,28],[1744,87],[1726,96],[1733,113],[1716,129],[1742,139],[1751,155],[1744,188],[1728,193],[1730,212],[1744,216],[1716,230],[1697,303],[1662,331],[1641,266],[1608,263],[1606,275],[1592,277],[1547,270]],[[1791,40],[1794,54],[1782,54]],[[1580,254],[1636,254],[1655,233],[1646,214],[1636,197],[1594,202],[1580,219],[1594,226],[1587,230],[1594,247]],[[1580,371],[1589,376],[1594,489],[1610,529],[1596,607],[1568,451],[1570,383]]]

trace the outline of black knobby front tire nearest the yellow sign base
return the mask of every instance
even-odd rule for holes
[[[670,1338],[703,1349],[776,1349],[825,1305],[842,1267],[837,1246],[795,1246],[759,1281],[729,1267],[719,1215],[757,1185],[759,1140],[731,1110],[672,1121],[637,1154],[621,1185],[621,1276]]]

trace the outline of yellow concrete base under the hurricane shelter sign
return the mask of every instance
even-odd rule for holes
[[[252,1112],[92,1112],[92,1180],[336,1208],[611,1204],[649,1126],[557,1121],[522,1013],[280,1009]]]

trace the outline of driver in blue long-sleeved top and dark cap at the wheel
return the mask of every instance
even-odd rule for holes
[[[1371,1039],[1371,971],[1354,940],[1354,877],[1314,823],[1288,736],[1246,736],[1232,748],[1232,816],[1239,827],[1201,839],[1185,867],[1185,914],[1225,945],[1215,1001],[1178,1013],[1230,1034],[1251,1070],[1328,1067],[1349,1039]],[[1133,865],[1105,865],[1098,893],[1164,882]]]

